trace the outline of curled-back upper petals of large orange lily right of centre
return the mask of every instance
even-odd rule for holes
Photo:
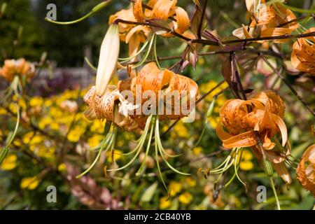
[[[248,107],[252,110],[248,111]],[[216,132],[225,148],[255,146],[255,132],[262,137],[265,150],[274,148],[270,139],[276,133],[281,134],[285,146],[288,134],[282,120],[284,109],[282,99],[272,91],[260,92],[249,100],[231,99],[219,111]]]

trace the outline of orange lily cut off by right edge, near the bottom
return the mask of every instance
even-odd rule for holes
[[[302,187],[309,190],[315,197],[315,144],[309,146],[302,155],[296,174]]]

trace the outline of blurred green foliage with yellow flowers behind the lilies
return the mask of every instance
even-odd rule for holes
[[[5,1],[0,0],[0,6],[3,2]],[[38,62],[43,52],[48,52],[48,60],[55,62],[57,67],[81,67],[84,64],[84,57],[88,55],[92,64],[96,64],[99,47],[108,28],[109,15],[129,5],[127,0],[113,0],[105,10],[83,22],[71,26],[58,26],[44,21],[48,3],[56,4],[58,21],[68,21],[85,15],[101,1],[10,0],[6,2],[8,3],[6,13],[0,18],[1,66],[6,58],[25,57],[29,61]],[[288,1],[291,6],[300,8],[303,8],[307,2],[311,1]],[[179,5],[186,8],[190,16],[192,15],[193,1],[180,0]],[[236,28],[235,25],[240,27],[248,21],[244,1],[209,1],[208,9],[209,29],[216,29],[221,36],[229,36]],[[314,22],[309,26],[314,27]],[[158,38],[158,44],[159,56],[181,55],[185,48],[185,45],[175,38],[168,40]],[[122,55],[124,50],[126,50],[125,46]],[[287,51],[290,54],[289,49]],[[198,60],[197,69],[189,66],[185,74],[197,80],[204,94],[222,80],[221,63],[224,59],[222,55],[202,57]],[[162,62],[162,65],[167,67],[175,62],[176,60],[169,60]],[[34,91],[29,89],[32,97],[24,102],[18,102],[23,109],[34,113],[31,122],[44,132],[33,132],[31,127],[25,125],[18,133],[13,151],[0,169],[0,209],[275,209],[269,179],[260,169],[250,150],[245,153],[240,172],[241,178],[248,183],[248,193],[241,183],[234,181],[229,188],[221,191],[217,200],[214,200],[213,188],[216,176],[204,179],[202,175],[196,175],[198,168],[215,167],[228,155],[227,152],[220,151],[221,141],[214,129],[218,121],[218,109],[232,97],[230,92],[218,98],[214,115],[207,118],[207,124],[204,123],[204,113],[216,92],[198,106],[200,113],[197,113],[195,123],[179,123],[174,127],[174,131],[162,137],[166,148],[174,153],[183,154],[181,160],[172,159],[172,164],[181,167],[183,172],[193,174],[191,177],[180,176],[162,167],[165,169],[167,184],[172,190],[169,200],[166,200],[167,193],[158,182],[157,176],[140,178],[134,176],[134,169],[130,169],[127,172],[117,172],[116,178],[106,179],[103,169],[104,164],[110,163],[109,155],[104,155],[97,163],[97,167],[85,178],[79,181],[73,179],[73,176],[80,172],[77,167],[87,168],[92,162],[94,153],[88,148],[97,146],[102,140],[104,124],[100,121],[90,123],[85,120],[83,116],[85,105],[81,98],[87,88],[83,87],[81,91],[71,88],[71,75],[64,77],[66,78],[48,82],[48,86],[56,89],[58,83],[63,85],[67,83],[66,87],[61,88],[61,94],[56,94],[57,92],[46,94],[38,87],[39,93],[37,92],[36,96]],[[299,77],[289,76],[288,80],[296,84],[297,78]],[[251,87],[262,89],[264,76],[257,72],[253,73],[251,82],[255,83]],[[296,87],[298,88],[298,85]],[[278,89],[281,90],[281,96],[287,104],[285,121],[290,133],[293,155],[299,158],[304,149],[314,143],[309,127],[314,123],[314,118],[302,108],[286,87]],[[312,90],[304,90],[300,87],[299,91],[314,105],[315,97]],[[78,105],[76,113],[67,111],[61,106],[62,102],[66,101],[76,102]],[[0,140],[3,142],[8,134],[7,130],[13,129],[15,118],[3,109],[0,110],[0,116]],[[204,125],[205,134],[200,144],[195,146]],[[167,127],[169,123],[162,124],[162,130],[167,130]],[[67,130],[71,131],[68,133]],[[132,144],[130,140],[136,138],[133,134],[121,131],[118,137],[117,145],[120,151],[128,151]],[[59,158],[56,156],[63,148],[69,152],[66,155],[67,164],[59,164]],[[209,156],[216,151],[220,153]],[[116,158],[116,160],[118,164],[123,165],[128,158]],[[137,165],[140,162],[137,161]],[[71,164],[76,164],[77,167]],[[148,169],[146,172],[154,173],[155,168]],[[290,169],[290,172],[295,179],[295,170]],[[232,171],[228,172],[227,176],[226,179],[229,179]],[[57,187],[57,203],[48,203],[45,200],[46,188],[50,185]],[[256,201],[256,189],[260,185],[267,186],[266,203]],[[283,209],[314,207],[314,198],[302,190],[296,180],[293,181],[290,190],[281,179],[276,179],[276,186]]]

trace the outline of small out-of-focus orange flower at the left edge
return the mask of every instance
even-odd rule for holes
[[[0,68],[0,76],[6,78],[9,82],[15,76],[26,77],[27,80],[35,76],[35,66],[30,62],[25,61],[24,58],[20,59],[6,59],[4,65]]]

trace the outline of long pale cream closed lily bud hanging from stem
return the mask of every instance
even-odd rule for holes
[[[102,97],[105,93],[106,87],[116,71],[119,47],[118,25],[111,25],[106,32],[99,53],[99,66],[96,78],[96,94],[99,97]]]

